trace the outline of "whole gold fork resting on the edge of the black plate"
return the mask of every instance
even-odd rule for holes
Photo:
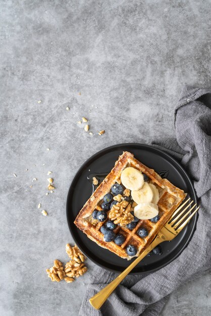
[[[90,304],[99,309],[102,304],[107,300],[107,298],[112,294],[112,292],[116,289],[116,287],[122,282],[122,280],[131,272],[131,270],[149,253],[154,247],[159,245],[163,241],[170,241],[174,239],[182,229],[187,225],[193,215],[197,212],[199,206],[191,213],[193,208],[196,206],[194,204],[186,213],[186,209],[192,204],[191,201],[183,210],[183,206],[190,200],[187,199],[177,210],[175,210],[174,214],[170,218],[170,220],[162,227],[159,233],[156,235],[151,244],[132,262],[132,264],[126,268],[114,281],[105,286],[101,291],[92,296],[89,299]],[[180,212],[180,213],[179,213]],[[184,214],[185,213],[185,214]],[[184,215],[183,215],[184,214]],[[183,215],[183,216],[182,216]],[[189,215],[189,216],[188,216]],[[184,222],[183,222],[184,221]]]

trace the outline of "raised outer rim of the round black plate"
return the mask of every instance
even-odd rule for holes
[[[95,152],[94,154],[92,154],[79,168],[78,170],[76,171],[75,173],[75,176],[73,177],[70,185],[69,185],[69,188],[68,188],[68,193],[67,193],[67,198],[66,198],[66,220],[67,220],[67,224],[68,224],[68,228],[69,228],[69,231],[71,233],[71,236],[75,242],[75,244],[80,248],[80,246],[78,245],[78,241],[77,239],[75,238],[74,234],[72,233],[72,229],[71,229],[71,223],[69,221],[69,218],[68,218],[68,201],[69,201],[69,196],[70,196],[70,191],[72,190],[72,185],[75,181],[75,179],[77,178],[78,176],[78,173],[85,167],[85,165],[87,163],[89,163],[91,160],[94,159],[95,156],[99,155],[100,153],[103,153],[104,151],[110,151],[111,149],[113,148],[117,148],[117,147],[121,147],[121,146],[143,146],[145,148],[150,148],[150,149],[153,149],[155,151],[158,151],[164,155],[166,155],[170,160],[172,160],[174,163],[176,163],[176,165],[184,172],[184,174],[186,175],[190,185],[191,185],[191,188],[192,188],[192,191],[193,191],[193,195],[194,195],[194,199],[195,199],[195,203],[197,203],[197,195],[196,195],[196,191],[195,191],[195,188],[193,186],[193,183],[192,183],[192,180],[190,179],[189,175],[187,174],[187,172],[185,171],[185,169],[174,159],[174,157],[172,157],[169,153],[163,151],[162,149],[159,149],[153,145],[147,145],[147,144],[144,144],[144,143],[120,143],[120,144],[116,144],[116,145],[112,145],[112,146],[109,146],[109,147],[105,147],[97,152]],[[186,248],[186,246],[188,245],[188,243],[190,242],[190,239],[192,238],[193,236],[193,233],[195,231],[195,228],[196,228],[196,223],[197,223],[197,218],[198,218],[198,214],[196,213],[194,216],[193,216],[193,219],[194,219],[194,223],[193,223],[193,227],[192,227],[192,230],[186,240],[186,242],[184,243],[184,245],[182,246],[182,248],[180,249],[180,251],[178,251],[178,253],[175,254],[175,256],[173,256],[168,262],[164,263],[163,265],[159,266],[158,268],[154,268],[154,269],[151,269],[149,271],[140,271],[140,272],[130,272],[129,274],[130,275],[144,275],[144,274],[149,274],[149,273],[152,273],[152,272],[155,272],[155,271],[158,271],[164,267],[166,267],[167,265],[169,265],[173,260],[175,260],[182,252],[183,250]],[[88,238],[88,237],[87,237]],[[84,250],[81,250],[84,255],[89,259],[91,260],[96,266],[102,268],[102,269],[105,269],[105,270],[108,270],[108,271],[111,271],[111,272],[114,272],[114,273],[118,273],[120,274],[121,271],[119,270],[115,270],[115,269],[111,269],[111,268],[108,268],[108,267],[105,267],[103,265],[101,265],[99,262],[95,261],[93,258],[90,258],[89,255],[87,255],[86,251]]]

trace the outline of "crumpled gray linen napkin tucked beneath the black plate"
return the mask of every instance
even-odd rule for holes
[[[96,268],[90,278],[80,316],[157,316],[168,295],[181,283],[199,277],[211,266],[211,110],[206,103],[209,89],[184,87],[175,109],[177,139],[152,144],[174,156],[194,182],[200,209],[196,230],[184,251],[168,266],[142,276],[127,276],[100,310],[89,298],[110,283],[117,274]]]

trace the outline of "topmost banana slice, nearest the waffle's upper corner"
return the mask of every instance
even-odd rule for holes
[[[128,167],[121,174],[121,182],[127,189],[135,191],[144,185],[144,178],[139,170]]]

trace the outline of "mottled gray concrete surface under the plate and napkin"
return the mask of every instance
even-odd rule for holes
[[[182,86],[210,85],[209,10],[196,0],[1,1],[1,315],[78,314],[92,262],[73,284],[45,273],[72,242],[68,186],[104,147],[174,135]],[[45,195],[48,171],[56,190]],[[210,315],[210,278],[172,293],[162,316]]]

